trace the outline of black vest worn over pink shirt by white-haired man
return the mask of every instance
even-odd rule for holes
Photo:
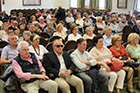
[[[33,64],[31,64],[29,61],[21,59],[20,54],[18,54],[18,56],[15,58],[15,60],[21,66],[22,71],[24,73],[31,72],[31,74],[41,74],[37,59],[35,57],[35,54],[30,53],[30,55],[31,55],[31,58],[33,60]],[[30,83],[30,82],[33,82],[35,80],[37,80],[37,78],[26,80],[25,82]]]

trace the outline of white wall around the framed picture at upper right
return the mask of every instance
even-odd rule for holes
[[[112,0],[112,12],[122,12],[128,14],[129,10],[133,10],[134,8],[134,1],[135,0],[127,0],[127,8],[122,9],[122,8],[117,8],[117,0]]]

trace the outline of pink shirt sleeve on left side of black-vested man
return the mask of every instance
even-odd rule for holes
[[[17,63],[16,60],[13,60],[12,61],[12,66],[13,66],[13,69],[14,69],[14,72],[16,74],[16,76],[18,78],[23,78],[25,80],[30,80],[31,78],[31,73],[24,73],[22,71],[22,68],[20,67],[20,65]]]

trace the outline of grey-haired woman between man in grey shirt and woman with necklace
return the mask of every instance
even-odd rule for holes
[[[26,41],[29,45],[31,45],[31,40],[30,40],[31,32],[30,31],[24,31],[23,32],[23,37],[19,38],[19,41]]]

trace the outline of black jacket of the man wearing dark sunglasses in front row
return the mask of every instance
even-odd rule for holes
[[[66,68],[70,69],[73,73],[75,70],[75,65],[73,64],[69,53],[67,53],[66,51],[63,51],[62,56],[63,56],[64,62],[65,62]],[[42,64],[43,64],[43,66],[46,70],[46,74],[48,76],[51,73],[54,75],[54,77],[52,79],[59,77],[58,74],[59,74],[59,70],[60,70],[60,62],[54,51],[44,54]]]

